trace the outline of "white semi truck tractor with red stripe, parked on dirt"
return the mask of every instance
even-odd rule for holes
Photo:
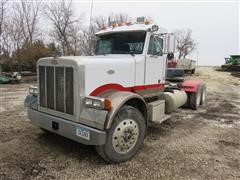
[[[174,35],[144,18],[96,33],[93,56],[47,57],[37,62],[38,86],[25,99],[32,124],[93,145],[107,162],[131,159],[148,125],[182,106],[205,102],[201,81],[167,82]]]

